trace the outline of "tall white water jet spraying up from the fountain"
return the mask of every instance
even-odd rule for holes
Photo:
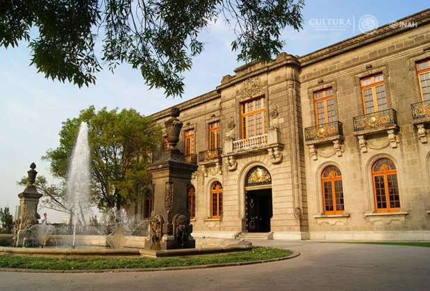
[[[82,122],[79,126],[78,138],[72,152],[66,184],[67,201],[72,205],[73,243],[76,238],[76,216],[88,209],[90,197],[90,145],[88,143],[88,125]]]

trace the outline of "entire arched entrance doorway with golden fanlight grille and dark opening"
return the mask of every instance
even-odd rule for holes
[[[245,177],[245,218],[248,232],[269,232],[272,218],[272,177],[255,166]]]

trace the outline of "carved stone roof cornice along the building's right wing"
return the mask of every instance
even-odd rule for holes
[[[410,15],[408,17],[404,17],[395,22],[416,23],[417,26],[428,24],[430,22],[430,9],[415,13],[414,15]],[[376,30],[373,30],[370,33],[356,35],[349,39],[345,39],[342,42],[338,42],[336,44],[332,44],[331,46],[321,48],[320,50],[314,51],[313,53],[302,55],[299,58],[299,62],[301,64],[301,67],[305,67],[315,62],[326,60],[327,58],[331,58],[335,55],[340,55],[341,53],[351,51],[353,49],[365,46],[372,42],[378,42],[381,39],[385,39],[387,37],[391,37],[399,33],[404,33],[405,31],[412,29],[414,28],[402,26],[395,27],[392,26],[392,24],[386,24],[377,28]]]

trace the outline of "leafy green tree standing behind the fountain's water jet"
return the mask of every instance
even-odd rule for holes
[[[65,180],[67,164],[81,122],[88,123],[91,150],[92,201],[102,211],[121,209],[149,191],[147,170],[150,152],[160,143],[161,130],[151,117],[134,109],[94,107],[67,119],[60,131],[60,145],[48,150],[44,159],[51,162],[54,177]]]

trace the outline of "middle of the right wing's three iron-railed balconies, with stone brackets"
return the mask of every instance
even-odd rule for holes
[[[354,135],[357,136],[358,145],[361,152],[367,152],[367,146],[372,148],[383,148],[384,145],[371,145],[367,142],[367,138],[373,134],[381,134],[386,132],[388,134],[388,143],[391,148],[397,148],[399,143],[399,136],[397,136],[397,115],[395,109],[386,109],[379,112],[372,112],[353,118]]]

